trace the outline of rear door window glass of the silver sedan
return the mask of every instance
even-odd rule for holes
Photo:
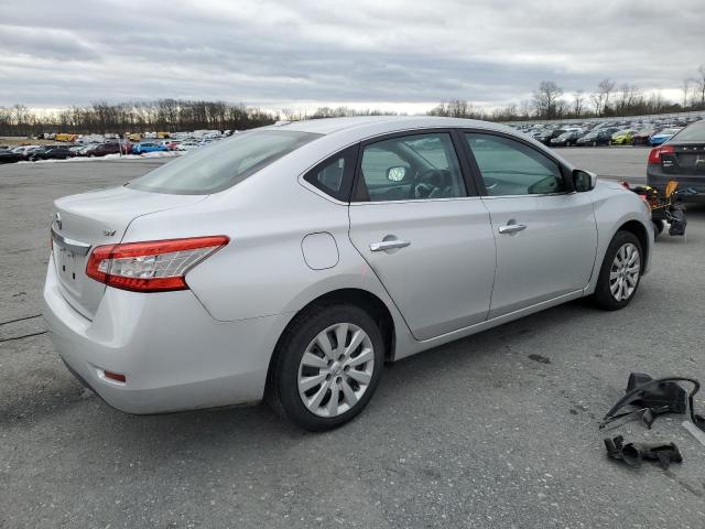
[[[467,196],[451,134],[403,136],[362,151],[355,199],[420,201]]]

